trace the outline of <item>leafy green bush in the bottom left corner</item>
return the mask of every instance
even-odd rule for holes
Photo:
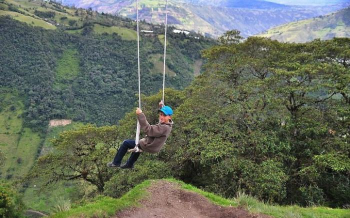
[[[23,217],[24,205],[19,194],[9,184],[0,181],[0,216]]]

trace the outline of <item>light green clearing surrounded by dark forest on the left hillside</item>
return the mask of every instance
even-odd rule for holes
[[[79,71],[79,56],[76,49],[66,49],[57,61],[56,83],[65,84],[66,80],[75,78]]]

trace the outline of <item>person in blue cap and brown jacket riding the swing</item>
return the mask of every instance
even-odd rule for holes
[[[141,129],[146,133],[144,138],[141,138],[138,144],[135,144],[135,140],[124,140],[118,151],[116,152],[112,162],[108,162],[108,167],[120,167],[120,168],[133,168],[133,164],[137,160],[140,152],[157,153],[164,145],[167,137],[170,134],[173,121],[171,119],[172,109],[169,106],[165,106],[162,101],[159,102],[159,122],[155,125],[150,125],[146,119],[146,116],[140,108],[136,109],[137,120]],[[132,151],[127,161],[121,164],[121,159],[125,155],[126,151]]]

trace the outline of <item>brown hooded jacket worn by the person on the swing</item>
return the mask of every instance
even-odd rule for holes
[[[138,114],[137,119],[141,129],[146,133],[146,136],[138,142],[141,149],[150,153],[159,152],[170,134],[173,121],[169,119],[169,122],[159,122],[158,124],[150,125],[144,113]]]

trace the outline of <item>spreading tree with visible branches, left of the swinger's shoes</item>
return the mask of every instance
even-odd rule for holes
[[[105,163],[114,155],[120,142],[117,138],[115,126],[85,125],[65,131],[52,140],[55,151],[40,156],[28,176],[44,186],[59,180],[83,179],[103,191],[104,182],[111,176]]]

